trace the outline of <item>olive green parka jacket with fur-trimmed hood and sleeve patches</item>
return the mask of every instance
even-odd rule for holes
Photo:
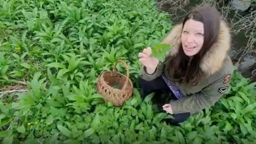
[[[162,41],[162,43],[172,45],[172,49],[167,55],[175,57],[177,54],[181,42],[181,33],[182,24],[176,25],[169,35]],[[228,90],[230,76],[233,73],[233,63],[228,56],[229,49],[229,28],[224,21],[221,21],[217,41],[205,54],[200,63],[200,68],[204,73],[204,77],[199,79],[198,84],[194,86],[174,83],[179,87],[183,98],[170,101],[173,114],[188,112],[190,115],[193,115],[214,105],[214,103],[222,97],[223,93]],[[151,81],[164,73],[165,76],[172,81],[166,63],[166,60],[164,62],[159,62],[156,71],[151,75],[147,74],[146,68],[142,66],[140,77],[146,81]]]

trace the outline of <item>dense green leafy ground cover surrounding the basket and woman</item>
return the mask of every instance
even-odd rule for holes
[[[172,26],[154,1],[0,0],[0,9],[1,90],[27,91],[1,92],[1,143],[256,142],[255,83],[236,71],[225,97],[181,126],[162,121],[170,116],[152,95],[140,99],[138,53]],[[95,90],[118,59],[134,83],[122,107]]]

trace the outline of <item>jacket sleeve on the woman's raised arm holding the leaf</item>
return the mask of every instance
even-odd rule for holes
[[[142,66],[141,70],[140,70],[140,77],[142,79],[144,79],[145,81],[152,81],[153,79],[157,78],[158,76],[161,76],[163,68],[164,68],[164,63],[159,61],[154,73],[153,74],[148,74],[147,70],[146,70],[146,67]]]

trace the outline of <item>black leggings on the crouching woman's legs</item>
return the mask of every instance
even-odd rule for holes
[[[159,76],[152,81],[145,81],[141,77],[139,77],[140,86],[142,88],[142,94],[141,97],[144,99],[148,94],[155,92],[154,99],[156,99],[158,104],[159,111],[165,112],[162,108],[162,106],[165,103],[169,103],[170,100],[177,100],[177,98],[174,96],[174,94],[171,94],[171,97],[163,98],[161,95],[163,93],[172,93],[172,91],[169,89],[167,84],[165,83],[162,76]],[[188,117],[190,116],[189,113],[179,113],[179,114],[172,114],[174,119],[165,119],[166,123],[172,124],[172,125],[179,125],[179,123],[186,121]]]

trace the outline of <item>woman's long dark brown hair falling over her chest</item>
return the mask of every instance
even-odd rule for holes
[[[198,7],[186,15],[182,22],[182,29],[189,19],[204,23],[204,43],[202,49],[190,59],[184,53],[180,43],[177,56],[169,60],[169,71],[173,75],[174,81],[196,85],[199,78],[203,76],[200,63],[206,52],[211,49],[212,44],[217,41],[221,15],[214,7]]]

